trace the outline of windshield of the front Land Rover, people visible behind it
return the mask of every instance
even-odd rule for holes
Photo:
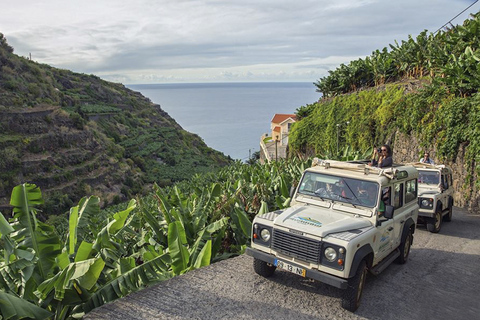
[[[359,179],[305,172],[298,193],[321,200],[350,203],[373,208],[377,205],[378,184]]]

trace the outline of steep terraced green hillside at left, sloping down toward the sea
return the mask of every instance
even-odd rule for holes
[[[0,205],[22,182],[49,212],[85,194],[118,202],[231,160],[122,84],[38,64],[0,34]]]

